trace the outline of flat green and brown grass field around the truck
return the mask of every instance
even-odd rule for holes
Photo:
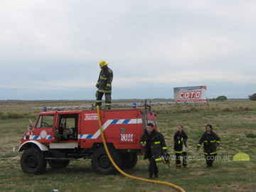
[[[131,102],[132,103],[132,102]],[[21,153],[13,153],[19,138],[28,126],[28,119],[36,121],[38,106],[86,105],[78,102],[0,102],[0,191],[176,191],[168,186],[125,178],[121,174],[100,175],[92,171],[89,159],[71,161],[66,169],[46,169],[43,175],[24,174],[20,166]],[[173,137],[182,124],[188,134],[186,169],[159,164],[159,181],[168,181],[186,191],[255,191],[256,188],[256,102],[248,100],[210,102],[209,106],[155,106],[159,131],[164,134],[169,154],[174,155]],[[206,168],[203,149],[196,150],[206,124],[213,125],[221,144],[213,168]],[[250,161],[233,161],[243,152]],[[196,158],[196,159],[194,159]],[[139,161],[128,174],[147,178],[149,162]]]

